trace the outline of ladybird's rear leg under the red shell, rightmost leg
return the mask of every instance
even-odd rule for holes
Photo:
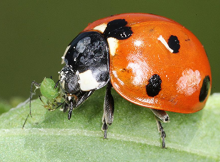
[[[165,133],[165,131],[163,129],[163,126],[162,126],[160,120],[163,121],[164,123],[169,122],[170,121],[169,115],[165,111],[163,111],[163,110],[151,109],[151,111],[155,115],[156,122],[157,122],[157,128],[158,128],[158,131],[161,134],[162,148],[166,148],[166,146],[165,146],[166,133]]]

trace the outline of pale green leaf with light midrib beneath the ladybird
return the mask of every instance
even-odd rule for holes
[[[167,149],[150,109],[134,105],[113,91],[114,122],[108,139],[101,131],[104,89],[95,92],[67,119],[67,113],[47,111],[39,101],[0,116],[0,161],[219,161],[220,94],[194,114],[168,112],[163,124]]]

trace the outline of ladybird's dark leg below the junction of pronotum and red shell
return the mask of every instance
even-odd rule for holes
[[[112,85],[109,82],[106,87],[106,94],[104,99],[104,112],[102,116],[102,130],[104,131],[104,138],[107,138],[108,125],[111,125],[114,119],[114,99],[111,94]]]

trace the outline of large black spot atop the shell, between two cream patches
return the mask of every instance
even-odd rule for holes
[[[126,25],[127,21],[125,21],[125,19],[116,19],[110,21],[104,31],[104,36],[106,38],[114,37],[118,40],[127,39],[133,34],[133,32],[131,27]]]

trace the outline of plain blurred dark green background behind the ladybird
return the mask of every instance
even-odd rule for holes
[[[191,30],[207,51],[212,92],[220,92],[219,0],[11,0],[0,2],[0,98],[27,98],[33,80],[57,80],[66,46],[88,23],[128,12],[162,15]]]

